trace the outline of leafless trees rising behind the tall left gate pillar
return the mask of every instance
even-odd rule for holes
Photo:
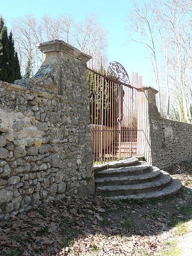
[[[31,75],[38,70],[43,55],[36,44],[50,40],[64,40],[81,51],[104,53],[107,47],[107,33],[98,23],[96,16],[87,16],[85,21],[75,23],[70,14],[59,17],[44,15],[37,20],[33,15],[12,20],[12,31],[19,53],[22,74],[27,62],[31,63]]]

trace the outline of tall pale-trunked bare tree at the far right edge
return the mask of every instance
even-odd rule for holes
[[[179,82],[181,89],[181,100],[183,105],[184,117],[186,122],[191,122],[190,117],[190,100],[188,98],[188,83],[186,82],[186,58],[183,49],[186,48],[185,39],[183,36],[186,27],[186,15],[189,12],[189,1],[188,0],[164,0],[160,1],[160,11],[161,16],[167,33],[172,36],[172,45],[175,48],[177,54],[177,67],[179,71]],[[190,97],[191,98],[191,97]]]

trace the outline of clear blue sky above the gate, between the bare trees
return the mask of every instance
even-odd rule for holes
[[[108,59],[121,63],[131,78],[132,72],[143,76],[143,85],[153,86],[152,70],[147,52],[141,44],[128,44],[126,15],[132,8],[132,0],[0,0],[0,15],[9,21],[12,17],[33,14],[57,16],[70,13],[74,20],[82,20],[86,14],[96,14],[99,23],[108,32]]]

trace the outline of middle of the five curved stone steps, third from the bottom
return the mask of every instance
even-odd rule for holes
[[[112,186],[112,185],[128,185],[138,184],[142,182],[148,182],[150,180],[157,179],[160,175],[160,169],[154,166],[149,167],[150,172],[145,172],[138,175],[128,176],[113,176],[113,177],[102,177],[95,178],[96,186]]]

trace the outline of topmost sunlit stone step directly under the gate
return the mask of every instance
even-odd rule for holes
[[[118,160],[118,161],[113,161],[113,162],[108,162],[108,163],[102,163],[99,165],[95,165],[93,167],[94,171],[102,171],[106,169],[111,169],[111,168],[119,168],[119,167],[127,167],[127,166],[135,166],[138,163],[138,158],[137,157],[130,157],[125,160]]]

